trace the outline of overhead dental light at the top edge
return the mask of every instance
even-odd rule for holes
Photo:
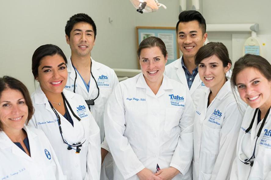
[[[163,7],[167,9],[167,7],[163,4],[160,4],[157,0],[130,0],[137,12],[141,14],[143,12],[155,12],[158,11],[159,7]]]

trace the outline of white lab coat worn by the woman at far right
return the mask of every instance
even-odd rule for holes
[[[239,160],[238,153],[239,153],[239,147],[240,147],[240,140],[245,133],[245,130],[248,129],[251,120],[253,118],[255,109],[252,109],[251,107],[248,107],[242,126],[240,128],[240,133],[238,136],[237,141],[237,157],[235,158],[233,162],[232,172],[230,175],[231,180],[237,180],[237,179],[250,179],[250,180],[259,180],[259,179],[271,179],[271,113],[269,112],[269,115],[267,116],[265,125],[262,128],[262,132],[257,140],[256,150],[255,150],[255,159],[254,164],[251,167],[249,164],[244,164]],[[262,121],[257,125],[257,117],[258,113],[256,114],[253,126],[251,130],[244,135],[243,139],[243,153],[246,154],[247,157],[251,157],[253,153],[253,149],[255,146],[255,141],[257,138],[258,130],[260,129],[260,126],[262,125]],[[242,159],[244,161],[244,159]]]

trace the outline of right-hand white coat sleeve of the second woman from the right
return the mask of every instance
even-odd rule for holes
[[[240,113],[236,103],[229,105],[225,112],[226,116],[220,130],[219,153],[211,179],[229,179],[233,160],[236,157],[237,139],[243,114]]]

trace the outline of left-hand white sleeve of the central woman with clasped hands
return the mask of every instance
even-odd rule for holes
[[[104,114],[104,127],[110,152],[123,177],[128,179],[145,168],[133,151],[127,137],[124,136],[126,121],[121,84],[115,88],[108,99]]]

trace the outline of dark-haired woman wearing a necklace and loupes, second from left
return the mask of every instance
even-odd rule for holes
[[[55,45],[35,50],[32,73],[39,86],[32,95],[35,113],[29,124],[45,132],[68,179],[99,179],[99,127],[83,97],[64,89],[66,64]]]

